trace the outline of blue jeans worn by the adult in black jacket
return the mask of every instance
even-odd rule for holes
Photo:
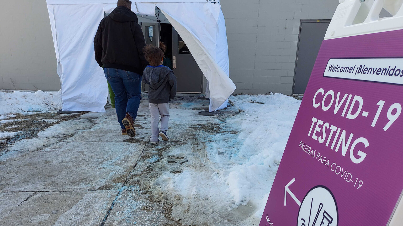
[[[116,114],[120,127],[125,129],[122,120],[126,113],[136,120],[141,100],[141,76],[134,72],[116,68],[104,68],[105,77],[115,94]]]

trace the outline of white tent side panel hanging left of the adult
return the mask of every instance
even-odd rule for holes
[[[104,18],[104,5],[54,5],[52,9],[62,110],[105,112],[108,85],[95,61],[93,45],[98,24]]]

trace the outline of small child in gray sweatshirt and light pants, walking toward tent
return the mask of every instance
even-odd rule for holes
[[[163,141],[169,140],[166,135],[169,121],[169,101],[175,98],[177,90],[177,79],[173,71],[162,66],[165,50],[166,46],[160,42],[160,48],[147,45],[143,51],[145,59],[150,63],[143,72],[143,79],[150,86],[148,106],[151,111],[151,144],[160,142],[158,136]],[[161,129],[158,128],[160,115]]]

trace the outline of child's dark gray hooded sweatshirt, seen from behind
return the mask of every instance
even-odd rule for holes
[[[147,66],[143,71],[144,82],[150,85],[148,102],[152,104],[169,103],[175,99],[177,80],[174,72],[166,66]]]

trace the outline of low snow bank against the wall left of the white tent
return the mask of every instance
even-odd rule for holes
[[[62,101],[59,92],[1,92],[0,91],[0,115],[47,112],[59,110]]]

